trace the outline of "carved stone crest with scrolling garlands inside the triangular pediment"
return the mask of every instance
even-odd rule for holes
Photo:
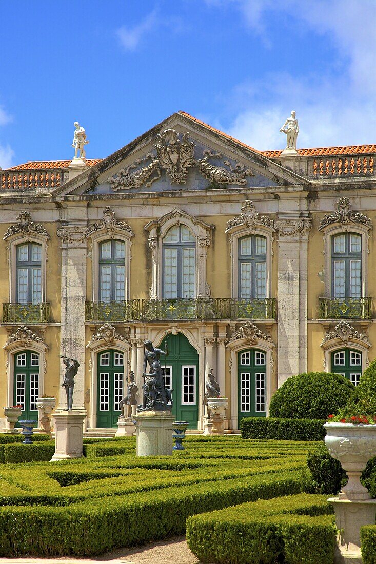
[[[245,186],[247,176],[254,176],[250,169],[237,162],[235,166],[230,161],[224,161],[223,166],[217,166],[209,162],[210,158],[222,158],[221,153],[213,153],[206,149],[203,158],[196,159],[195,144],[188,140],[189,133],[185,133],[182,139],[174,129],[165,129],[158,134],[161,143],[155,143],[155,153],[148,153],[143,158],[138,158],[126,169],[117,172],[116,177],[110,177],[107,182],[114,192],[122,189],[150,187],[153,182],[161,177],[163,171],[169,177],[171,184],[185,184],[189,169],[196,166],[199,173],[211,182],[218,184],[237,184]],[[144,164],[145,163],[145,164]],[[141,168],[137,168],[143,165]],[[134,170],[135,169],[135,170]]]

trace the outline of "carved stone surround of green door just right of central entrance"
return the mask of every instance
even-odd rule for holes
[[[252,327],[253,326],[253,327]],[[247,336],[246,336],[247,335]],[[238,429],[238,352],[245,349],[259,349],[266,354],[266,417],[269,416],[269,403],[272,398],[272,374],[274,367],[273,349],[276,343],[262,333],[253,323],[246,323],[233,332],[226,349],[231,352],[229,362],[231,372],[231,429]]]

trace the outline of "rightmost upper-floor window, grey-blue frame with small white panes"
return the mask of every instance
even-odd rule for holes
[[[332,296],[360,298],[362,292],[362,237],[340,233],[332,237]]]

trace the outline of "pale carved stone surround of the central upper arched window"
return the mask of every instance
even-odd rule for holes
[[[209,225],[201,219],[174,208],[159,219],[154,219],[144,227],[149,233],[149,246],[152,252],[152,285],[150,298],[162,297],[162,240],[170,227],[185,225],[196,238],[196,297],[207,298],[210,288],[206,278],[207,251],[211,244],[211,231],[214,225]]]

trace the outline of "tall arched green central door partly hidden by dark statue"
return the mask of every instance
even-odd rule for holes
[[[159,349],[164,350],[165,340]],[[168,336],[169,355],[160,363],[165,386],[172,389],[173,415],[177,421],[188,421],[190,429],[198,428],[198,352],[187,338],[178,333]],[[166,360],[166,366],[165,364]]]

